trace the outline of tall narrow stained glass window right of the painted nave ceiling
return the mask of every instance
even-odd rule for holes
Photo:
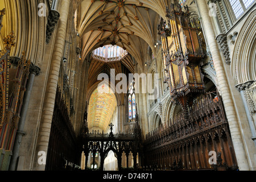
[[[129,113],[129,122],[134,121],[136,118],[136,100],[135,100],[135,81],[133,80],[129,85],[129,96],[128,96],[128,113]]]

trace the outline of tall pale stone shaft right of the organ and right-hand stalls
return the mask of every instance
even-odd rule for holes
[[[212,52],[213,63],[216,69],[216,76],[220,88],[220,93],[226,110],[226,117],[228,118],[230,134],[233,141],[234,151],[236,153],[237,163],[241,170],[250,170],[243,139],[241,135],[240,125],[238,123],[237,113],[234,108],[234,102],[229,89],[228,80],[225,75],[224,65],[221,60],[220,51],[214,35],[212,21],[209,16],[209,10],[205,1],[197,0],[197,6],[204,24],[206,36],[209,43],[210,52]]]

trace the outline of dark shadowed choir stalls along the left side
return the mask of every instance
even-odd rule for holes
[[[55,106],[52,117],[51,134],[48,144],[46,170],[72,170],[79,164],[80,154],[77,137],[65,98],[57,87]]]

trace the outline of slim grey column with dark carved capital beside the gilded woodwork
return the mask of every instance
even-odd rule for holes
[[[28,110],[28,104],[30,102],[30,96],[31,96],[31,90],[32,86],[34,84],[35,76],[38,76],[40,73],[40,68],[36,67],[35,65],[32,65],[30,68],[30,77],[27,81],[27,88],[26,92],[24,94],[23,98],[23,104],[22,104],[22,110],[20,111],[20,119],[19,119],[19,126],[17,130],[17,134],[14,141],[13,146],[13,156],[11,158],[10,162],[10,171],[16,170],[16,162],[19,155],[19,148],[20,148],[20,142],[22,140],[22,136],[25,134],[23,129],[26,122],[26,116],[27,116],[27,110]]]

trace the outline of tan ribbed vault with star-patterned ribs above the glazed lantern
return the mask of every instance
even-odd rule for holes
[[[167,0],[84,0],[77,4],[75,22],[82,57],[94,49],[115,44],[125,48],[143,67],[146,48],[156,43],[159,16]]]

